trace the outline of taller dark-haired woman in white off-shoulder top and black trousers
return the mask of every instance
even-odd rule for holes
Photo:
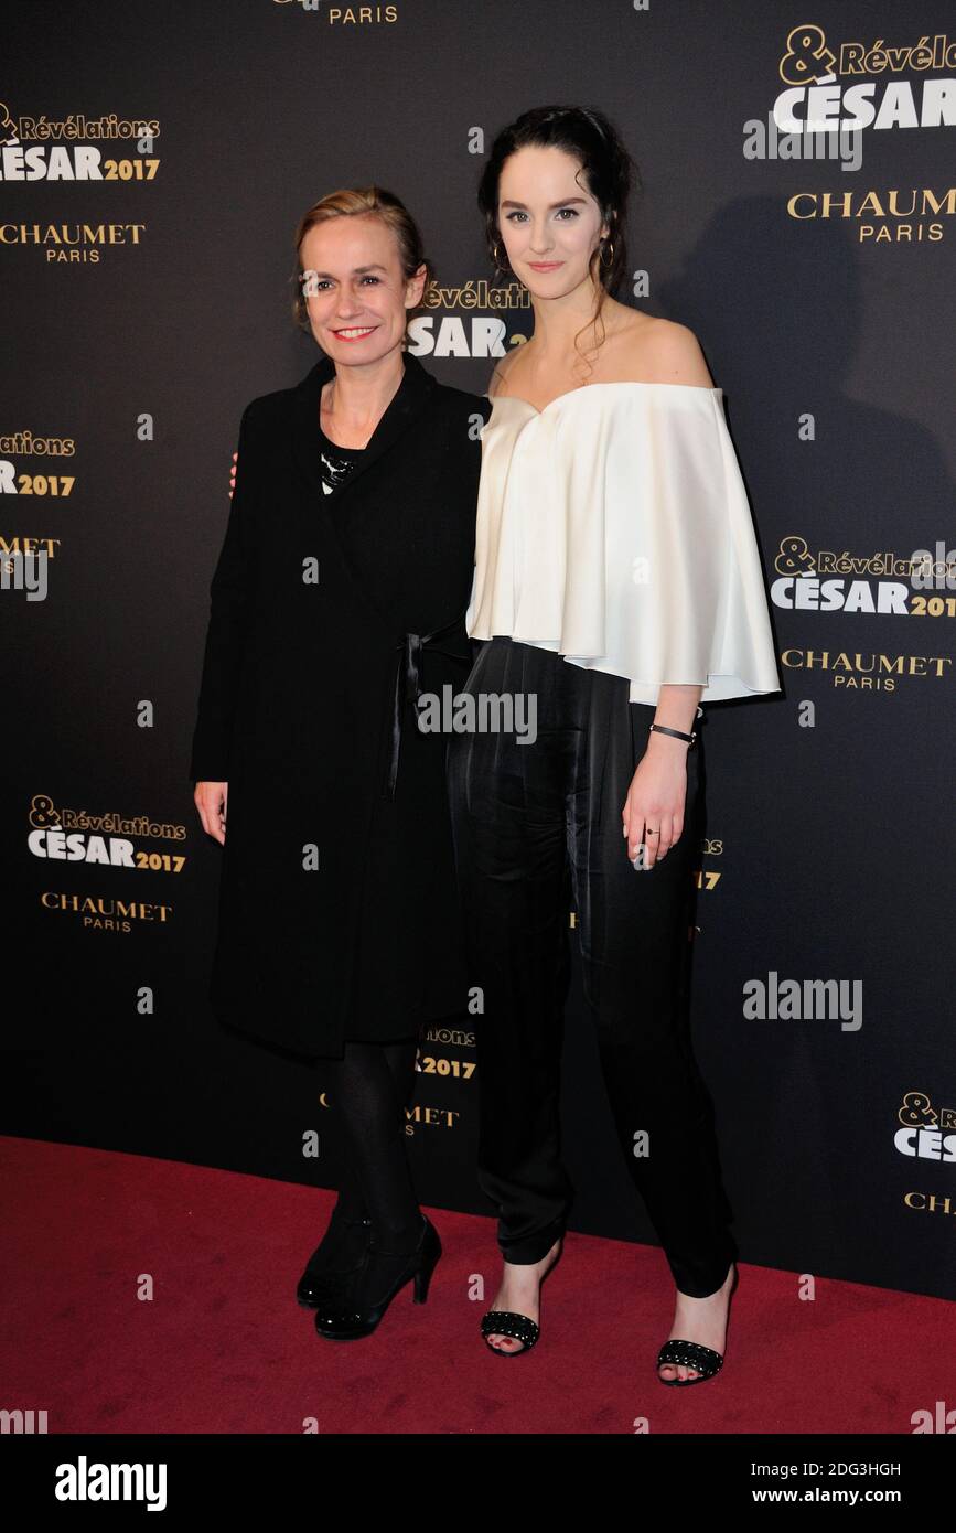
[[[685,966],[703,814],[702,701],[780,691],[722,391],[694,334],[610,294],[633,166],[608,120],[504,129],[480,207],[533,337],[481,432],[466,684],[449,791],[481,1082],[480,1180],[504,1274],[481,1329],[536,1343],[573,1187],[561,1162],[568,903],[617,1136],[677,1286],[657,1377],[723,1363],[732,1211],[691,1049]],[[513,713],[495,714],[495,699]]]

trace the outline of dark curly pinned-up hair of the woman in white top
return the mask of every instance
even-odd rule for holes
[[[484,215],[489,256],[495,271],[507,271],[499,264],[501,228],[498,225],[498,187],[504,162],[519,149],[530,144],[541,149],[562,149],[581,161],[587,190],[601,207],[602,222],[608,225],[591,254],[590,271],[599,290],[598,310],[604,296],[619,287],[627,270],[625,225],[627,202],[633,185],[640,187],[640,176],[628,155],[620,135],[604,112],[587,106],[536,106],[503,127],[478,184],[478,207]],[[507,259],[507,258],[504,258]]]

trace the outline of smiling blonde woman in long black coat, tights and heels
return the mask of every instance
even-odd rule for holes
[[[297,1297],[320,1335],[349,1338],[412,1277],[424,1300],[441,1251],[404,1105],[420,1026],[467,996],[447,737],[417,728],[415,702],[472,664],[490,405],[404,350],[431,267],[397,198],[323,198],[296,250],[323,357],[242,415],[190,780],[224,848],[218,1013],[337,1061],[343,1179]]]

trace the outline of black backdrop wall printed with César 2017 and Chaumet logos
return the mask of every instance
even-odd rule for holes
[[[547,103],[599,106],[636,158],[619,297],[699,336],[771,601],[784,690],[708,708],[688,931],[742,1257],[953,1297],[942,0],[8,8],[3,1131],[336,1185],[326,1069],[207,1000],[222,854],[187,768],[230,457],[245,403],[317,360],[293,233],[337,187],[408,204],[438,274],[412,351],[486,391],[532,310],[475,189]],[[478,1026],[423,1032],[408,1142],[424,1203],[490,1216]],[[654,1242],[576,963],[564,1096],[573,1228]]]

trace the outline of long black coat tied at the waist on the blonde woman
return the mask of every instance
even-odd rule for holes
[[[490,405],[403,360],[331,495],[317,428],[332,362],[247,406],[210,587],[190,762],[192,782],[228,782],[208,995],[242,1032],[317,1056],[467,1000],[447,736],[417,730],[414,699],[458,691],[472,665]],[[339,512],[374,550],[362,572]]]

